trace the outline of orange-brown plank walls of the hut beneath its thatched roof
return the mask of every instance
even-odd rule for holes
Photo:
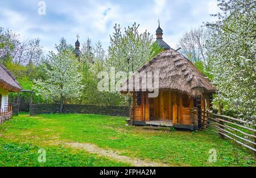
[[[202,110],[209,107],[209,95],[202,96]],[[207,103],[207,104],[205,104]],[[174,124],[191,125],[193,98],[180,92],[160,90],[157,98],[148,98],[147,92],[133,94],[132,119],[137,121],[163,120]]]

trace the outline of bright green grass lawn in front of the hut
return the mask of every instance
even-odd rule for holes
[[[232,143],[209,131],[164,132],[125,124],[125,117],[117,116],[20,113],[0,125],[0,166],[133,166],[122,156],[164,166],[255,166],[242,147],[236,162]],[[113,151],[117,158],[69,143]],[[39,149],[46,150],[46,162],[38,162]],[[216,162],[208,161],[210,149],[217,151]]]

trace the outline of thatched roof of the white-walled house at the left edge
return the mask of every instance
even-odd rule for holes
[[[15,77],[0,63],[0,88],[5,88],[9,91],[18,92],[22,90]]]

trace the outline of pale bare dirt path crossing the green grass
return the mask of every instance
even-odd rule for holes
[[[164,163],[150,162],[147,160],[135,159],[135,158],[130,158],[129,156],[119,155],[119,152],[117,151],[105,150],[90,143],[67,143],[67,145],[74,148],[84,149],[90,153],[98,154],[100,156],[106,156],[106,157],[118,160],[119,162],[126,162],[137,167],[168,166],[167,164],[164,164]]]

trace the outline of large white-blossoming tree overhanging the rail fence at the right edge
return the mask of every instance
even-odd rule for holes
[[[222,12],[216,23],[207,23],[213,32],[208,41],[208,57],[216,100],[226,104],[241,118],[256,118],[254,0],[220,1]]]

